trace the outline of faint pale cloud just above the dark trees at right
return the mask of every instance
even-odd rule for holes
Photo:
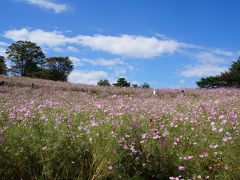
[[[180,75],[184,77],[202,77],[202,76],[215,76],[221,72],[226,71],[227,67],[221,67],[212,64],[200,64],[196,66],[187,67]]]

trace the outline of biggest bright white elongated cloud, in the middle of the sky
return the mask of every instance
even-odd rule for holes
[[[174,40],[159,40],[155,37],[121,35],[121,36],[78,36],[80,44],[93,50],[105,51],[114,55],[151,58],[162,54],[174,53],[188,45]]]

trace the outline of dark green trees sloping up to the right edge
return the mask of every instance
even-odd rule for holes
[[[216,76],[201,78],[196,82],[200,88],[240,87],[240,58],[230,68]]]

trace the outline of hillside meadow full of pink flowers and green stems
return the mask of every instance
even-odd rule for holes
[[[240,179],[239,89],[0,78],[1,179]]]

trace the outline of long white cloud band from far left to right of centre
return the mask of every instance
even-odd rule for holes
[[[67,37],[58,31],[48,32],[42,29],[29,30],[26,28],[6,31],[4,36],[14,41],[29,40],[39,45],[52,48],[66,44],[82,45],[93,50],[134,58],[152,58],[163,54],[175,53],[183,48],[192,47],[186,43],[175,40],[159,40],[156,37],[136,35],[79,35]],[[75,48],[74,50],[76,50]],[[73,48],[70,49],[73,50]]]

